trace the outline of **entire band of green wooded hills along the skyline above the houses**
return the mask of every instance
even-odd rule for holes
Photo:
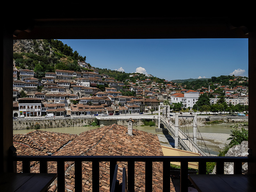
[[[55,69],[70,70],[81,72],[83,69],[77,64],[77,61],[86,61],[85,56],[79,55],[77,51],[67,44],[63,44],[59,40],[14,40],[13,41],[13,60],[18,69],[33,70],[35,78],[41,79],[47,72],[55,72]],[[88,63],[88,66],[91,65]],[[122,81],[127,84],[128,82],[137,83],[150,79],[151,82],[167,84],[164,79],[158,77],[146,77],[142,73],[125,73],[110,69],[97,68],[100,74],[107,74],[110,77],[116,79],[116,81]],[[130,75],[133,75],[130,77]],[[229,81],[229,80],[236,80]],[[126,81],[129,80],[129,81]],[[202,87],[210,88],[214,90],[219,85],[231,85],[231,86],[248,86],[247,77],[234,77],[230,75],[221,75],[220,77],[204,78],[204,79],[185,79],[185,80],[172,80],[174,83],[186,87],[186,89],[201,89]],[[147,83],[151,84],[150,82]]]

